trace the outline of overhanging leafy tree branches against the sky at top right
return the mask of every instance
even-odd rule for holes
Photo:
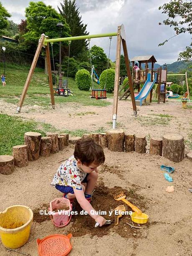
[[[171,0],[169,3],[164,4],[159,7],[159,10],[163,10],[162,13],[168,15],[169,18],[163,21],[164,25],[169,25],[174,28],[175,35],[171,38],[181,34],[189,33],[192,34],[192,1],[183,1],[183,0]],[[159,22],[159,25],[162,25]],[[168,38],[162,43],[159,43],[159,46],[167,43],[171,38]],[[192,59],[192,43],[189,46],[186,46],[185,51],[179,53],[178,61],[181,59],[190,60]]]

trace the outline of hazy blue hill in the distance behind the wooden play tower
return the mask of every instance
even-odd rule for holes
[[[189,63],[185,63],[184,61],[176,61],[173,62],[171,64],[167,64],[167,71],[168,73],[174,73],[177,74],[180,71],[182,71],[182,69],[186,69],[187,66],[189,65]],[[149,63],[149,68],[151,68],[152,63]],[[159,65],[158,63],[154,64],[154,68],[159,68],[161,65]],[[142,69],[145,68],[145,64],[141,64]],[[163,65],[162,65],[163,68]]]

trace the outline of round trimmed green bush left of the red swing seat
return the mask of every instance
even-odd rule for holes
[[[79,69],[75,76],[78,89],[88,91],[91,87],[91,75],[86,69]]]

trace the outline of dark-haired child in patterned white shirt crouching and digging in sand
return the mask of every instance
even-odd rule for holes
[[[94,214],[91,196],[95,188],[97,167],[105,161],[103,148],[91,138],[78,139],[73,156],[69,157],[58,168],[51,185],[64,193],[71,202],[76,198],[81,208],[100,224],[106,223],[105,218]],[[86,188],[82,183],[87,183]]]

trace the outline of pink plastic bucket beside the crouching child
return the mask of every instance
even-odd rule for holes
[[[68,210],[65,210],[68,209]],[[50,211],[53,213],[51,220],[57,227],[66,226],[71,220],[72,205],[67,198],[56,198],[50,203]]]

